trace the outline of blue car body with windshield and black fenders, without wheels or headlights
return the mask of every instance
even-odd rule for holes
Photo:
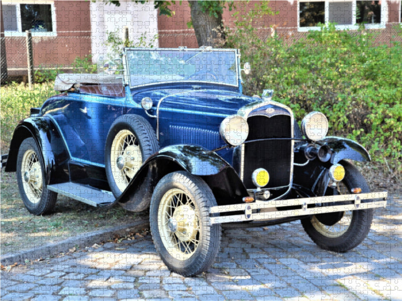
[[[266,200],[325,195],[331,165],[343,159],[370,160],[360,144],[339,137],[316,141],[313,147],[317,155],[317,149],[326,145],[321,149],[328,160],[314,160],[314,155],[306,160],[311,140],[302,136],[291,110],[272,101],[268,92],[262,98],[242,94],[237,50],[125,49],[123,66],[124,74],[113,75],[112,80],[106,76],[106,82],[90,74],[79,80],[61,76],[56,86],[60,84],[57,90],[63,93],[33,108],[31,116],[17,126],[6,171],[17,169],[22,141],[34,137],[50,190],[94,206],[119,201],[129,210],[140,211],[149,205],[147,198],[157,182],[172,171],[202,177],[218,205],[230,205],[243,203],[247,196],[261,199],[265,190],[269,190]],[[152,101],[151,108],[143,108],[144,99]],[[75,183],[111,191],[105,145],[114,121],[124,115],[143,117],[160,149],[136,171],[122,194],[92,202],[53,187]],[[228,145],[220,126],[234,115],[243,116],[250,131],[244,143]],[[260,167],[270,175],[262,190],[251,179]]]

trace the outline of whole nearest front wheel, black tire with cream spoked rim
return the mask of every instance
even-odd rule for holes
[[[179,199],[185,201],[179,205]],[[210,223],[209,208],[216,205],[209,186],[196,176],[174,172],[160,180],[152,195],[149,221],[156,250],[171,271],[193,276],[214,262],[222,231],[220,224]],[[182,222],[181,228],[177,221]]]

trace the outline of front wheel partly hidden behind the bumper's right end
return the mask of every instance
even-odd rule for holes
[[[344,191],[340,193],[351,193],[351,189],[357,187],[361,188],[363,193],[370,192],[366,180],[356,167],[346,161],[342,161],[341,164],[345,168],[345,178],[339,183],[339,187],[344,188]],[[347,252],[366,238],[373,219],[373,209],[346,211],[343,215],[338,216],[337,214],[313,215],[302,219],[302,225],[310,238],[321,248],[335,252]],[[339,220],[340,218],[342,219]],[[332,226],[322,223],[324,219],[339,220],[334,224],[334,228],[340,227],[342,230],[338,232],[330,230]],[[346,228],[347,225],[348,228]],[[341,228],[343,226],[345,228]]]

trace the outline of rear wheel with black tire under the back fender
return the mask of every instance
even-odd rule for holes
[[[50,213],[56,204],[57,193],[46,186],[45,164],[34,138],[22,141],[17,155],[17,184],[29,212],[35,215]]]

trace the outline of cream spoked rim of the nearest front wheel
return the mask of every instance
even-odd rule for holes
[[[158,208],[158,230],[167,252],[185,260],[199,245],[199,216],[194,200],[181,189],[167,191]]]

